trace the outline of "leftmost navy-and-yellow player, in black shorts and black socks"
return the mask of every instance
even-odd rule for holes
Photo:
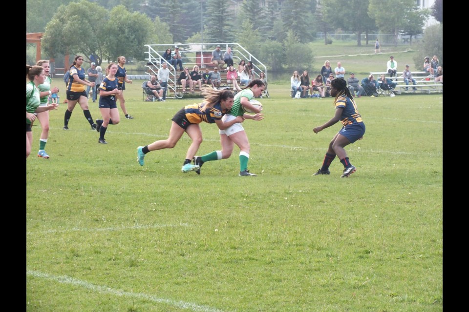
[[[77,103],[83,109],[86,120],[88,120],[91,130],[96,129],[96,124],[93,122],[93,117],[88,109],[88,95],[85,91],[85,86],[93,86],[94,82],[85,79],[85,69],[82,68],[83,57],[77,55],[72,66],[70,66],[70,80],[67,85],[67,110],[64,116],[64,130],[68,130],[68,121],[72,116],[73,109]]]

